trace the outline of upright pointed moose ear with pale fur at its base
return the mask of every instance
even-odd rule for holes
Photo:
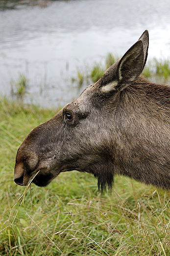
[[[148,39],[146,30],[123,57],[106,70],[98,81],[101,91],[122,91],[136,80],[146,64]]]

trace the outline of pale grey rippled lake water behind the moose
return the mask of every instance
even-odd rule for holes
[[[149,57],[170,56],[169,0],[2,3],[8,9],[0,11],[0,91],[10,95],[21,72],[27,102],[62,106],[71,101],[77,96],[72,84],[77,66],[91,66],[108,52],[123,55],[146,29]]]

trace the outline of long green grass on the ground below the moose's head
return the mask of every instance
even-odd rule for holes
[[[169,256],[170,192],[125,177],[100,194],[92,175],[61,173],[11,207],[25,189],[13,181],[17,149],[55,113],[0,101],[0,256]]]

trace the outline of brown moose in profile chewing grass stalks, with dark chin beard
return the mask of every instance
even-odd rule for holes
[[[34,128],[19,147],[14,181],[47,186],[60,172],[94,174],[100,191],[115,175],[170,189],[170,87],[141,75],[148,31],[48,122]]]

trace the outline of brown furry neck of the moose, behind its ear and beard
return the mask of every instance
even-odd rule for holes
[[[115,111],[114,172],[167,189],[170,168],[170,88],[143,77],[120,92]],[[133,171],[132,171],[133,170]]]

